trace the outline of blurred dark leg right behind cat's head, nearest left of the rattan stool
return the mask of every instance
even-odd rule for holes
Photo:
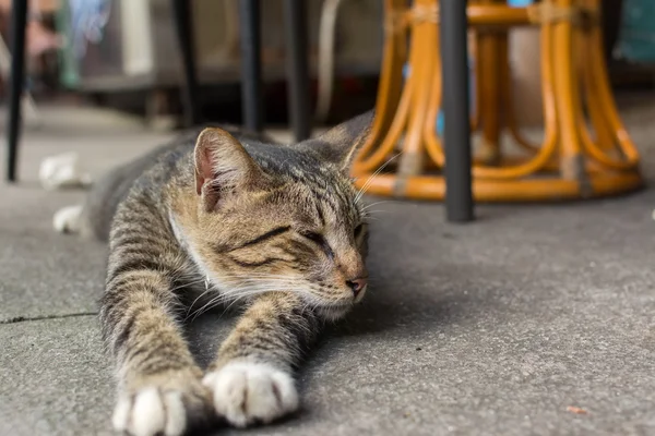
[[[291,124],[302,141],[311,134],[306,0],[285,0],[284,14]]]

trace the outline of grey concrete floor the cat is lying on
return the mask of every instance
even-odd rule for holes
[[[622,113],[652,178],[655,99],[632,102]],[[111,113],[45,117],[25,133],[21,183],[0,184],[0,435],[109,435],[105,247],[53,233],[55,210],[83,194],[41,190],[38,164],[76,150],[98,173],[167,135]],[[654,206],[653,189],[480,206],[466,226],[437,204],[376,206],[365,304],[301,373],[302,411],[245,433],[655,434]],[[231,322],[192,326],[201,361]]]

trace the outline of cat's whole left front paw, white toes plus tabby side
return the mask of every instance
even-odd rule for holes
[[[206,389],[192,380],[178,389],[147,386],[122,395],[111,421],[117,432],[131,436],[181,436],[209,422],[211,414]]]

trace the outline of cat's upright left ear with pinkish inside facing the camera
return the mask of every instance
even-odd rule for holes
[[[212,210],[224,195],[247,190],[263,178],[243,146],[218,128],[204,129],[195,142],[195,193]]]

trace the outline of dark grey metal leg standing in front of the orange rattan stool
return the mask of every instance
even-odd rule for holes
[[[441,0],[439,20],[443,65],[445,215],[446,219],[453,222],[474,219],[466,3],[465,0]]]

